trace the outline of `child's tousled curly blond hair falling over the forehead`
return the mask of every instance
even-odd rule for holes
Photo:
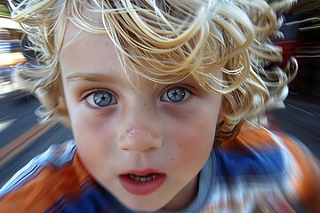
[[[295,2],[11,0],[12,20],[36,51],[36,63],[16,67],[17,79],[42,101],[44,118],[68,123],[59,55],[71,21],[90,33],[108,34],[124,70],[156,83],[192,75],[204,90],[222,93],[216,140],[228,141],[244,121],[279,106],[287,95],[295,60],[287,68],[277,67],[282,50],[271,40],[281,36],[282,14]]]

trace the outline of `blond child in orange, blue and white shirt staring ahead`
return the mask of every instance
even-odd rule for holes
[[[308,150],[260,125],[294,0],[9,1],[36,51],[17,79],[74,141],[0,191],[1,212],[320,212]],[[292,208],[293,207],[293,208]]]

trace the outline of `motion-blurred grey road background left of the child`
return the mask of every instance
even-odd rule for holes
[[[12,66],[34,58],[28,38],[10,19],[7,0],[0,0],[0,187],[36,154],[72,138],[57,122],[39,123],[36,98],[13,80]]]

